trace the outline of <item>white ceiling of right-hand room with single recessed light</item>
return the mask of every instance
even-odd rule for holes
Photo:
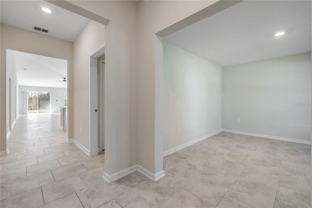
[[[164,41],[220,66],[310,52],[311,1],[245,0]]]

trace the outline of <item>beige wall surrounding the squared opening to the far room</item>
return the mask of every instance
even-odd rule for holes
[[[6,150],[6,121],[5,121],[5,109],[6,109],[6,48],[38,54],[42,56],[49,56],[59,59],[65,59],[68,61],[68,137],[73,138],[73,43],[63,41],[57,38],[33,33],[16,27],[1,24],[0,26],[0,39],[1,39],[1,69],[0,69],[0,139],[1,139],[1,151]],[[42,47],[44,46],[44,47]]]

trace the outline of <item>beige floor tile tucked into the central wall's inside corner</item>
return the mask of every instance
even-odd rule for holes
[[[144,183],[145,181],[148,181],[149,178],[143,175],[142,173],[138,171],[134,171],[133,173],[130,173],[129,175],[126,175],[123,178],[118,179],[115,181],[115,183],[120,188],[132,188],[137,187],[141,183]]]

